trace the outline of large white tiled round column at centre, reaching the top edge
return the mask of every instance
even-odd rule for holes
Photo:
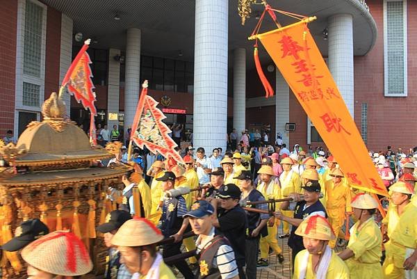
[[[226,148],[227,0],[195,2],[193,144],[208,154]]]

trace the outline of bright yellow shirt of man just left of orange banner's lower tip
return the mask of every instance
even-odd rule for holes
[[[334,185],[333,182],[327,184],[326,198],[327,214],[332,216],[332,218],[345,218],[345,212],[352,212],[352,207],[350,206],[352,192],[343,181],[338,185]]]

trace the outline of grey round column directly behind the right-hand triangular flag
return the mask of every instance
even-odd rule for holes
[[[127,29],[124,81],[124,132],[133,124],[140,94],[140,29]]]

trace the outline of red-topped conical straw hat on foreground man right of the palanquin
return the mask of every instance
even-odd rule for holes
[[[155,244],[162,239],[161,231],[153,223],[146,218],[133,217],[133,219],[124,222],[111,239],[111,244],[136,247]]]

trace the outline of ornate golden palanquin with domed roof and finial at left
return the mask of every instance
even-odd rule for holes
[[[100,166],[99,160],[118,152],[119,143],[90,145],[88,136],[65,119],[65,103],[52,93],[42,106],[42,122],[31,122],[17,144],[0,141],[0,244],[8,241],[22,221],[40,218],[50,231],[72,230],[90,250],[95,275],[103,273],[106,248],[95,227],[117,208],[107,189],[122,189],[129,166]],[[112,146],[114,145],[114,146]],[[26,276],[18,253],[5,253],[3,276]]]

